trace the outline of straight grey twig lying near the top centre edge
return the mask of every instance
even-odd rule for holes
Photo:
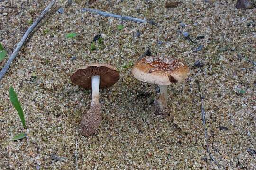
[[[149,23],[149,24],[153,24],[155,25],[154,21],[149,21],[149,20],[144,20],[144,19],[138,19],[135,17],[129,17],[129,16],[121,16],[121,15],[117,15],[117,14],[111,14],[111,13],[107,13],[107,12],[103,12],[97,9],[90,9],[90,8],[82,8],[82,11],[90,11],[90,12],[94,12],[96,14],[100,14],[106,17],[115,17],[115,18],[119,18],[119,19],[123,19],[123,20],[128,20],[128,21],[134,21],[134,22],[140,22],[140,23]]]

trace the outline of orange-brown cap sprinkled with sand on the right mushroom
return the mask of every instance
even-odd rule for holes
[[[189,68],[178,59],[148,56],[139,60],[131,72],[140,81],[157,85],[170,85],[186,79]]]

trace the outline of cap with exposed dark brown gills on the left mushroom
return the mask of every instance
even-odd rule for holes
[[[85,89],[91,89],[91,77],[100,76],[100,88],[107,88],[119,80],[119,73],[110,64],[92,63],[78,68],[70,76],[74,85],[79,85]]]

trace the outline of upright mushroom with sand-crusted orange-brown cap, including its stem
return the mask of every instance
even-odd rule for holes
[[[186,79],[189,68],[178,59],[147,56],[133,66],[131,73],[140,81],[159,85],[160,95],[154,101],[155,112],[157,115],[166,116],[167,87],[171,83]]]

